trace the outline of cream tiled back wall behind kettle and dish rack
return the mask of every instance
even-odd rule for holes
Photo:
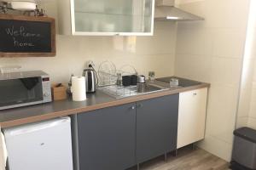
[[[55,0],[42,3],[47,14],[57,19]],[[174,22],[157,22],[154,26],[154,37],[137,37],[136,43],[127,37],[57,35],[57,54],[54,58],[0,59],[0,65],[21,65],[23,70],[43,70],[49,73],[54,82],[67,82],[71,73],[81,75],[87,60],[95,61],[96,65],[111,60],[118,69],[125,64],[134,65],[140,74],[146,76],[148,71],[155,71],[156,77],[173,75],[177,25]],[[128,50],[128,47],[132,49]]]

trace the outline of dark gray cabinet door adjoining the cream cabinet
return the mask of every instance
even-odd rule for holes
[[[137,102],[137,163],[177,146],[178,94]]]

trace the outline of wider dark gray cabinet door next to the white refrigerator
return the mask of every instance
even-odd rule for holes
[[[80,170],[122,170],[136,164],[135,106],[78,115]]]

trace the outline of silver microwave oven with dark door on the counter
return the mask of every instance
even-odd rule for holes
[[[0,110],[47,102],[51,89],[44,71],[0,73]]]

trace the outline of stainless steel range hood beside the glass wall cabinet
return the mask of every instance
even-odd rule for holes
[[[174,4],[174,0],[156,0],[154,20],[204,20],[200,16],[176,8]]]

